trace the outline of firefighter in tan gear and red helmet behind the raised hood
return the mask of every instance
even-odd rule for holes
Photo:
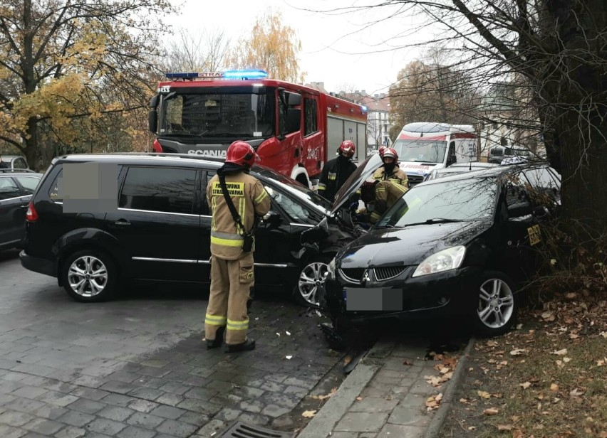
[[[407,173],[398,167],[398,154],[391,147],[380,150],[383,166],[373,173],[373,179],[380,183],[375,186],[375,201],[370,215],[371,223],[377,222],[381,215],[409,190]]]

